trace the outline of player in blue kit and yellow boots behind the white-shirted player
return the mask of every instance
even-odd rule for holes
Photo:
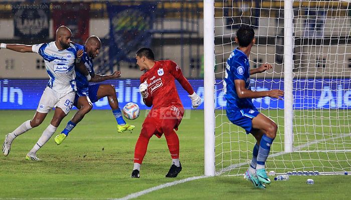
[[[101,48],[101,41],[97,36],[90,36],[84,46],[75,44],[78,49],[84,50],[82,60],[77,65],[83,65],[87,68],[91,79],[88,79],[81,72],[76,71],[77,77],[77,93],[74,101],[74,105],[79,109],[76,114],[68,121],[66,127],[55,137],[55,142],[61,144],[64,139],[68,136],[69,132],[83,119],[86,113],[88,113],[92,107],[93,102],[96,102],[100,98],[107,96],[108,103],[112,109],[112,113],[117,121],[117,132],[123,132],[125,130],[134,129],[134,125],[129,125],[123,119],[121,109],[118,106],[118,100],[116,96],[116,90],[114,85],[111,84],[91,84],[91,82],[100,82],[107,79],[118,78],[120,71],[115,71],[110,75],[99,75],[95,74],[93,67],[93,58],[99,53]]]

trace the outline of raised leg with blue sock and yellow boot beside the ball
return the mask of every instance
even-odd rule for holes
[[[91,93],[90,92],[91,90],[89,88],[89,95],[94,96],[94,94],[91,94],[93,92]],[[126,130],[133,130],[135,128],[134,125],[130,125],[126,123],[125,120],[123,119],[121,109],[119,108],[119,105],[118,105],[118,100],[117,100],[116,90],[114,88],[114,85],[99,84],[96,96],[97,96],[97,100],[107,96],[108,103],[117,121],[117,132],[124,132]]]

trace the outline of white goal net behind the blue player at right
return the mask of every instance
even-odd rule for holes
[[[284,102],[254,99],[278,124],[267,171],[351,170],[351,3],[293,1],[293,152],[284,152]],[[253,90],[284,89],[284,0],[215,0],[216,171],[242,174],[255,139],[226,116],[225,62],[241,24],[254,27],[251,67],[268,62],[273,70],[251,76]],[[289,92],[289,91],[285,91]]]

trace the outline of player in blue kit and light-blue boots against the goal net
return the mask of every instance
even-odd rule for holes
[[[256,109],[252,98],[270,96],[282,99],[284,91],[279,89],[251,90],[250,75],[264,72],[272,68],[272,65],[265,63],[258,68],[250,69],[249,55],[251,47],[256,41],[252,27],[241,26],[237,31],[235,41],[239,47],[233,50],[227,60],[224,81],[227,117],[232,123],[241,126],[246,130],[246,133],[251,133],[256,138],[253,158],[245,177],[251,180],[255,187],[265,188],[262,183],[269,184],[271,182],[265,171],[265,161],[277,133],[277,124]]]

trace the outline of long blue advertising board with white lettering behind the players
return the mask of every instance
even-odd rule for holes
[[[189,80],[194,90],[204,100],[204,80]],[[37,109],[40,97],[48,80],[0,79],[0,109]],[[175,81],[178,93],[185,108],[191,108],[192,103],[188,93]],[[128,102],[137,103],[141,109],[149,109],[139,93],[138,79],[117,79],[104,81],[104,84],[114,84],[119,106]],[[350,79],[304,79],[293,80],[293,107],[295,109],[317,108],[351,108]],[[279,79],[251,80],[253,90],[284,89],[284,82]],[[215,107],[225,108],[222,80],[216,80]],[[283,109],[284,100],[270,97],[253,99],[254,105],[260,109]],[[94,109],[110,109],[107,97],[94,103]],[[201,104],[198,109],[204,109]]]

